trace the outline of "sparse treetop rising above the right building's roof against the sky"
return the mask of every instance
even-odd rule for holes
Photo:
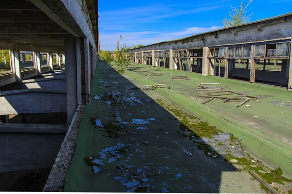
[[[251,16],[254,14],[254,13],[252,13],[249,16],[245,16],[245,14],[247,13],[246,9],[251,2],[253,2],[253,0],[249,0],[249,2],[247,3],[247,5],[244,8],[242,5],[243,4],[242,1],[240,3],[239,9],[231,6],[233,13],[229,12],[229,16],[231,18],[227,19],[225,17],[225,19],[223,20],[224,28],[239,26],[239,25],[248,23],[250,21],[250,19],[252,18]]]

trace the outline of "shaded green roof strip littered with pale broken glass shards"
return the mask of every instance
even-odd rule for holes
[[[159,193],[163,187],[171,193],[262,193],[259,183],[251,180],[249,174],[239,172],[222,158],[206,156],[191,141],[177,133],[180,121],[155,102],[150,93],[130,90],[134,85],[104,62],[99,62],[95,75],[91,85],[91,104],[86,106],[76,151],[66,174],[65,192],[126,192],[127,188],[114,177],[125,176],[125,173],[133,175],[141,168],[146,172],[145,176],[153,179],[147,184],[150,185],[148,187],[155,186],[155,193]],[[120,92],[119,96],[125,97],[126,102],[111,106],[107,101],[93,98],[94,95],[106,95],[109,92]],[[126,134],[109,138],[105,129],[94,128],[90,123],[91,117],[100,119],[103,125],[117,120],[128,122],[124,126]],[[132,124],[133,118],[149,123]],[[145,141],[148,145],[143,144]],[[84,158],[99,158],[102,149],[119,143],[137,146],[127,147],[128,151],[115,162],[109,163],[111,156],[108,155],[107,159],[102,159],[106,165],[99,166],[101,171],[94,174]],[[187,157],[184,149],[191,152],[192,157]],[[134,167],[119,169],[122,162]]]

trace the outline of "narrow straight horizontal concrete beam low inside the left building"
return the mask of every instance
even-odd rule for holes
[[[45,125],[45,124],[0,124],[0,132],[10,133],[66,133],[64,125]]]

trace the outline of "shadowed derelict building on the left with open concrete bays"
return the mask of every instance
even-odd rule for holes
[[[90,102],[97,6],[0,1],[0,172],[52,168],[80,107]]]

